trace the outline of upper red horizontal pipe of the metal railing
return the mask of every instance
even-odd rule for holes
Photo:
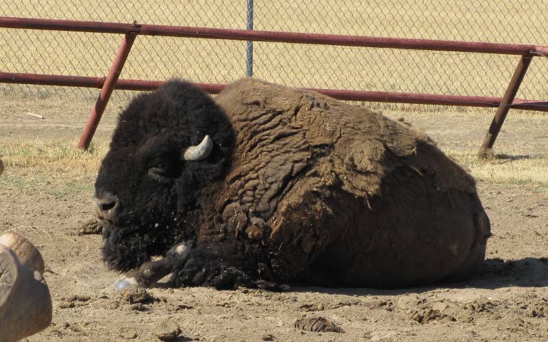
[[[469,53],[501,53],[548,55],[548,47],[524,44],[497,44],[488,42],[455,42],[409,38],[377,38],[369,36],[341,36],[334,34],[305,34],[279,31],[251,31],[245,29],[217,29],[164,25],[137,25],[123,23],[99,23],[93,21],[61,21],[53,19],[29,19],[0,17],[0,27],[15,29],[50,29],[126,34],[136,32],[149,36],[172,36],[224,40],[254,40],[260,42],[288,42],[299,44],[338,45],[347,47],[376,47],[388,49],[414,49],[431,51],[458,51]]]

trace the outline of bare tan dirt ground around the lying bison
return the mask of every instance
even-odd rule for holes
[[[0,102],[0,146],[77,142],[90,107]],[[45,116],[37,119],[27,112]],[[111,106],[97,133],[107,141]],[[475,152],[493,112],[389,112],[405,116],[445,150]],[[497,148],[511,162],[548,157],[548,116],[510,118]],[[10,159],[5,157],[5,175]],[[17,166],[12,166],[17,168]],[[93,171],[93,170],[92,170]],[[88,181],[92,182],[92,173]],[[3,176],[5,176],[3,175]],[[68,181],[68,180],[67,180]],[[162,321],[175,341],[545,341],[548,339],[548,187],[479,179],[493,237],[480,274],[460,283],[399,290],[293,287],[284,293],[208,288],[149,289],[151,298],[116,293],[119,274],[101,263],[100,235],[77,235],[92,218],[90,188],[55,194],[0,179],[0,233],[26,235],[46,261],[53,323],[28,341],[158,341]],[[344,332],[306,332],[301,317],[325,317]],[[162,328],[163,327],[163,328]]]

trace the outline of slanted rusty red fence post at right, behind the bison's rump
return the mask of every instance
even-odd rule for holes
[[[485,135],[482,147],[479,148],[479,152],[477,153],[479,157],[486,158],[493,156],[493,145],[495,144],[495,140],[497,140],[497,135],[499,135],[499,132],[501,131],[504,119],[506,119],[506,114],[510,111],[512,102],[516,97],[521,81],[523,81],[523,77],[525,77],[525,73],[527,73],[527,68],[529,68],[532,59],[532,55],[521,56],[518,66],[516,66],[516,70],[514,71],[514,75],[512,75],[512,79],[510,79],[508,88],[506,88],[506,92],[501,99],[497,113],[495,113],[495,118],[493,118],[489,131]]]

